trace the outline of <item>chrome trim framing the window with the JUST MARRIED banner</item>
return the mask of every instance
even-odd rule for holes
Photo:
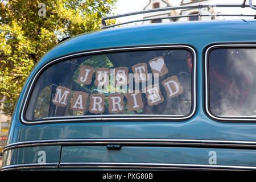
[[[191,113],[185,117],[182,117],[182,115],[150,115],[150,114],[133,114],[129,115],[123,115],[123,114],[109,114],[109,115],[83,115],[83,116],[70,116],[70,117],[48,117],[44,121],[26,121],[25,118],[23,118],[24,115],[24,106],[26,106],[28,103],[28,96],[32,92],[32,85],[34,85],[36,78],[38,78],[39,74],[42,73],[43,69],[48,67],[48,65],[53,64],[57,61],[68,59],[69,57],[73,56],[86,56],[92,53],[104,53],[104,52],[113,52],[113,51],[137,51],[140,49],[155,49],[155,48],[187,48],[193,53],[193,75],[192,75],[192,87],[193,95],[192,95],[192,110]],[[102,49],[99,51],[88,51],[88,52],[80,52],[75,53],[68,56],[59,57],[55,60],[50,61],[46,65],[44,65],[42,68],[39,69],[39,71],[36,73],[34,78],[32,78],[32,81],[30,81],[30,87],[28,88],[28,92],[26,93],[26,98],[24,101],[24,106],[22,107],[22,111],[20,112],[20,119],[23,123],[26,124],[38,124],[38,123],[55,123],[55,122],[65,122],[65,121],[115,121],[115,120],[136,120],[136,119],[143,119],[143,120],[152,120],[152,119],[164,119],[164,120],[170,120],[170,119],[176,119],[176,120],[182,120],[182,119],[188,119],[192,117],[193,114],[196,112],[197,107],[197,97],[196,97],[196,86],[197,86],[197,80],[196,80],[196,70],[197,70],[197,54],[195,48],[192,46],[185,46],[185,45],[172,45],[172,46],[143,46],[143,47],[127,47],[127,48],[110,48],[110,49]],[[126,118],[127,117],[127,118]],[[143,118],[144,117],[144,118]],[[148,118],[149,117],[149,118]],[[56,119],[52,119],[56,118]],[[49,120],[52,119],[52,120]]]

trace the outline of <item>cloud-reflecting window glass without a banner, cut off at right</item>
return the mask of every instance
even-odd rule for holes
[[[209,53],[209,109],[220,117],[256,116],[256,49],[216,48]]]

